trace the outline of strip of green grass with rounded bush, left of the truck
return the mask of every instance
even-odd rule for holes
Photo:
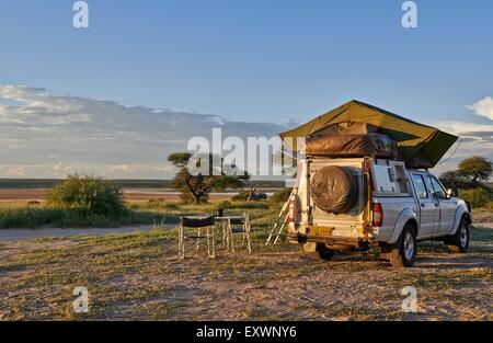
[[[266,201],[180,204],[149,199],[126,203],[117,185],[95,176],[69,175],[47,194],[46,203],[0,204],[0,229],[39,227],[119,227],[136,224],[177,224],[183,214],[241,214],[248,209],[255,224],[268,227],[279,204]]]

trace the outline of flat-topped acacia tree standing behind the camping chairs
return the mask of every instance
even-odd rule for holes
[[[246,174],[230,176],[221,172],[219,175],[214,175],[211,168],[209,168],[207,174],[192,174],[188,170],[188,161],[191,158],[192,153],[188,152],[175,152],[168,157],[168,161],[180,169],[171,185],[180,192],[180,197],[186,204],[206,203],[210,192],[223,192],[227,188],[242,187],[249,179]],[[213,156],[208,156],[206,159],[208,159],[208,165],[213,165],[210,163]]]

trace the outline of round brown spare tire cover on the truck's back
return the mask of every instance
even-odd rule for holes
[[[328,165],[311,179],[311,197],[326,213],[345,213],[357,201],[358,185],[343,167]]]

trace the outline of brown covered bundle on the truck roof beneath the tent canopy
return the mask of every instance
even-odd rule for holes
[[[395,141],[380,134],[328,134],[317,136],[307,139],[306,152],[309,156],[325,157],[398,157]]]

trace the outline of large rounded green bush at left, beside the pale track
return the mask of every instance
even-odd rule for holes
[[[81,214],[119,217],[125,211],[119,188],[94,176],[69,175],[47,194],[47,201],[54,206],[78,209]]]

